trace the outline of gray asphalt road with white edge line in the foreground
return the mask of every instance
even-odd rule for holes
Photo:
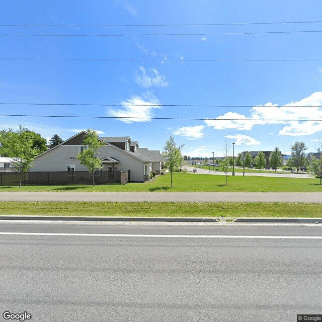
[[[296,321],[322,313],[321,229],[4,222],[1,314],[27,311],[31,321],[52,322]]]

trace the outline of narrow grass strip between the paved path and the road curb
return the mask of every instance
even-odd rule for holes
[[[135,217],[321,217],[322,204],[1,201],[1,215]]]

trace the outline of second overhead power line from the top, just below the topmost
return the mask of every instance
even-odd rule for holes
[[[322,30],[291,30],[291,31],[251,31],[251,32],[214,32],[214,33],[163,33],[163,34],[0,34],[0,36],[22,37],[126,37],[126,36],[230,36],[230,35],[264,35],[264,34],[298,34],[320,33]]]

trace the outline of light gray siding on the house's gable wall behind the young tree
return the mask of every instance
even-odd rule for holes
[[[79,145],[60,145],[46,153],[39,155],[34,160],[34,167],[30,171],[66,171],[67,165],[74,165],[75,171],[87,171],[77,159],[70,160],[69,157],[77,156]],[[115,170],[130,170],[131,181],[144,181],[144,162],[135,157],[114,148],[105,145],[99,149],[99,157],[111,156],[120,160],[115,164]]]

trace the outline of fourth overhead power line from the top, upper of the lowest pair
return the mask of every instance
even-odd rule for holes
[[[264,106],[264,105],[202,105],[202,104],[197,104],[197,105],[193,105],[193,104],[128,104],[128,103],[124,103],[124,104],[92,104],[92,103],[9,103],[9,102],[0,102],[0,105],[64,105],[64,106],[109,106],[109,107],[115,107],[115,106],[168,106],[168,107],[224,107],[224,108],[235,108],[235,107],[266,107],[266,108],[270,108],[270,107],[286,107],[286,105],[279,105],[279,106],[274,106],[274,105],[270,105],[270,106]],[[291,106],[287,106],[287,107],[322,107],[321,105],[291,105]]]

